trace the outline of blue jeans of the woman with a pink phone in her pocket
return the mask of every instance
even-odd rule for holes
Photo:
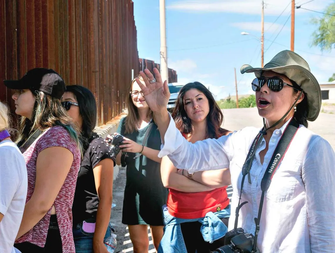
[[[76,248],[76,253],[93,253],[93,233],[87,233],[82,229],[82,222],[78,223],[76,228],[72,230],[74,246]],[[108,225],[105,238],[111,236],[111,233],[114,232],[114,229],[111,224]]]

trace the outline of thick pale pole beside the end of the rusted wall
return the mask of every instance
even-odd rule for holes
[[[160,21],[160,75],[163,82],[169,83],[169,70],[167,69],[167,47],[166,47],[166,26],[165,26],[165,0],[159,0],[159,21]]]

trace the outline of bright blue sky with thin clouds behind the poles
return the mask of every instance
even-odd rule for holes
[[[133,1],[139,57],[159,63],[159,0]],[[296,5],[308,1],[296,0]],[[240,68],[243,64],[260,67],[261,46],[255,37],[241,35],[241,32],[261,36],[261,0],[165,2],[168,66],[177,71],[178,83],[199,81],[209,87],[217,99],[224,98],[229,93],[235,95],[236,68],[239,94],[252,94],[250,84],[254,75],[241,75]],[[290,49],[291,0],[264,2],[266,64],[278,52]],[[302,7],[322,12],[331,2],[333,0],[314,0]],[[310,20],[320,16],[322,14],[312,11],[295,10],[294,49],[309,63],[312,73],[321,83],[335,72],[335,50],[329,53],[311,47],[316,27]]]

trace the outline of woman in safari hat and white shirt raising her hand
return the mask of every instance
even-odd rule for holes
[[[189,174],[230,168],[231,210],[239,215],[232,212],[229,230],[241,227],[252,235],[247,235],[252,247],[244,252],[256,252],[256,246],[263,253],[334,252],[335,154],[307,128],[321,107],[320,86],[307,62],[286,50],[264,68],[244,65],[242,74],[256,75],[252,89],[264,127],[194,144],[176,129],[166,110],[166,81],[154,71],[157,80],[145,70],[140,73],[146,85],[138,83],[164,143],[158,156],[167,155]]]

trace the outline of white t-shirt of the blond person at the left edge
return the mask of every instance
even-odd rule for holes
[[[0,142],[0,252],[15,253],[14,241],[27,196],[27,168],[15,143]]]

